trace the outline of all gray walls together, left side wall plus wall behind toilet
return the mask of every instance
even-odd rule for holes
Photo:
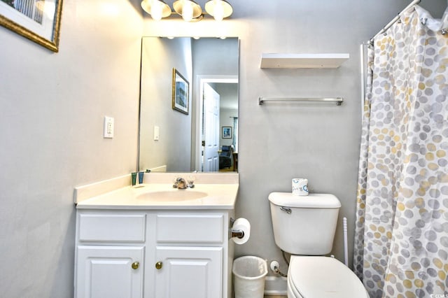
[[[295,176],[341,199],[353,238],[359,44],[408,1],[231,2],[235,13],[222,23],[145,18],[142,24],[134,1],[64,1],[57,54],[0,28],[1,296],[73,295],[73,187],[136,166],[141,36],[241,38],[237,215],[248,218],[253,231],[237,255],[280,259],[267,195],[290,191]],[[446,1],[422,5],[441,14]],[[261,70],[262,52],[349,52],[351,59],[334,71]],[[341,107],[261,107],[260,95],[346,101]],[[114,139],[102,138],[104,115],[116,120]]]

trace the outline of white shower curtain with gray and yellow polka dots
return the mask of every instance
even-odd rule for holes
[[[374,38],[353,267],[370,297],[448,297],[448,8]]]

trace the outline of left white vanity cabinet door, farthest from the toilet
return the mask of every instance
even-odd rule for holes
[[[142,246],[78,246],[76,297],[142,297],[143,264]]]

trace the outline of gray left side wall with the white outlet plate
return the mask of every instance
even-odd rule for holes
[[[142,22],[64,1],[58,53],[0,27],[1,297],[73,296],[73,188],[136,167]]]

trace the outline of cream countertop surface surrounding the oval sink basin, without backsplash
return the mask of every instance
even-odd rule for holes
[[[142,184],[139,187],[122,187],[78,202],[78,209],[234,209],[238,183],[195,184],[194,188],[177,190],[172,184]],[[150,192],[205,192],[207,197],[182,201],[142,199]],[[180,193],[184,194],[184,193]],[[139,197],[140,196],[140,197]]]

